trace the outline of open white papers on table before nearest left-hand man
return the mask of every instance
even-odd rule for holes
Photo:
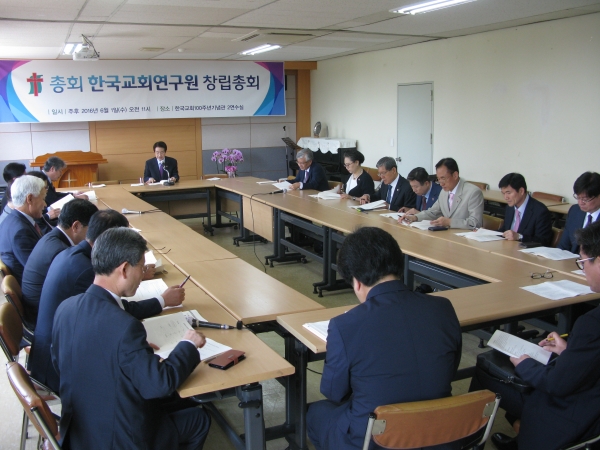
[[[191,313],[194,312],[195,314],[193,315],[195,318],[202,317],[197,311],[191,311]],[[144,324],[144,328],[146,328],[147,341],[159,347],[154,353],[161,358],[168,358],[179,341],[181,341],[181,338],[183,338],[185,332],[193,330],[184,313],[152,317],[144,320],[142,323]],[[200,359],[205,360],[227,350],[231,350],[231,347],[206,338],[206,345],[199,348],[198,352],[200,353]]]

